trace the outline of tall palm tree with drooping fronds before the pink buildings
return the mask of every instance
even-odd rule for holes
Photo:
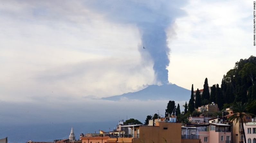
[[[245,139],[245,132],[243,128],[243,122],[245,122],[244,116],[251,115],[250,113],[245,113],[247,105],[248,103],[244,103],[244,104],[242,104],[242,102],[234,103],[233,107],[231,107],[234,114],[229,117],[229,121],[231,122],[235,121],[235,124],[239,121],[239,123],[242,124],[243,139],[245,143],[246,143],[246,139]]]

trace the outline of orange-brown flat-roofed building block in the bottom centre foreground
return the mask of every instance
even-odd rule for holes
[[[154,125],[118,124],[116,131],[105,132],[106,136],[80,135],[80,139],[82,143],[200,143],[197,132],[197,128],[181,127],[181,123],[176,122],[176,116],[171,116],[156,119]]]

